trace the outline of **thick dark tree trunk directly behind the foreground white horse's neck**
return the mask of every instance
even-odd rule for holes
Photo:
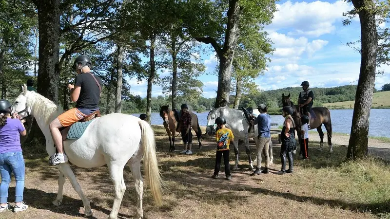
[[[38,93],[58,104],[59,2],[37,1],[39,22]]]

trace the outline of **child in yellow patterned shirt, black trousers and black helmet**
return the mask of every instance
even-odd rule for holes
[[[234,141],[234,136],[232,130],[226,128],[226,119],[223,116],[220,116],[215,119],[215,123],[219,128],[216,132],[216,157],[215,157],[215,169],[213,179],[218,178],[219,168],[221,166],[221,158],[223,156],[223,161],[225,164],[225,176],[226,180],[231,180],[232,176],[230,175],[230,164],[229,164],[229,146],[230,142]]]

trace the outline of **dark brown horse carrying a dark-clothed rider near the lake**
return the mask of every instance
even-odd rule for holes
[[[294,105],[291,102],[290,99],[290,93],[289,95],[285,96],[284,93],[282,93],[282,104],[283,107],[290,106],[294,110],[294,113],[292,114],[292,118],[295,122],[295,130],[298,132],[298,139],[299,143],[301,142],[301,110],[299,106]],[[315,116],[313,115],[315,114]],[[317,131],[320,135],[321,143],[320,143],[320,150],[322,151],[322,146],[324,144],[324,132],[322,131],[322,124],[324,124],[326,131],[328,132],[328,145],[329,145],[329,151],[333,151],[332,147],[332,122],[331,122],[331,112],[326,107],[313,107],[312,108],[312,118],[310,120],[310,127],[311,128],[317,128]]]

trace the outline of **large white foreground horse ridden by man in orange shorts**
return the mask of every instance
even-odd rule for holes
[[[49,155],[56,152],[50,134],[49,124],[62,112],[52,101],[23,86],[22,93],[15,100],[13,112],[21,118],[34,115],[39,128],[46,138],[46,151]],[[114,183],[114,204],[109,219],[116,219],[126,186],[123,180],[123,168],[129,164],[132,168],[137,191],[137,216],[143,218],[141,159],[144,156],[145,175],[154,201],[161,204],[161,175],[157,166],[156,142],[152,128],[145,121],[132,115],[120,113],[108,114],[93,120],[78,139],[63,143],[65,153],[72,164],[92,168],[107,164],[110,178]],[[53,204],[62,202],[65,177],[80,196],[85,206],[85,216],[92,216],[90,202],[82,192],[69,163],[57,165],[59,168],[58,195]]]

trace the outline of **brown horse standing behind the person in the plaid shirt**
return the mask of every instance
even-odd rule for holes
[[[194,129],[196,137],[199,142],[199,149],[202,148],[201,139],[204,139],[202,136],[202,131],[200,130],[198,117],[195,113],[188,111],[191,116],[191,128]],[[177,110],[170,110],[168,106],[160,106],[160,116],[164,120],[163,125],[165,130],[168,133],[169,137],[169,151],[175,151],[175,134],[176,128],[179,126],[179,115]],[[178,131],[178,130],[177,130]]]

